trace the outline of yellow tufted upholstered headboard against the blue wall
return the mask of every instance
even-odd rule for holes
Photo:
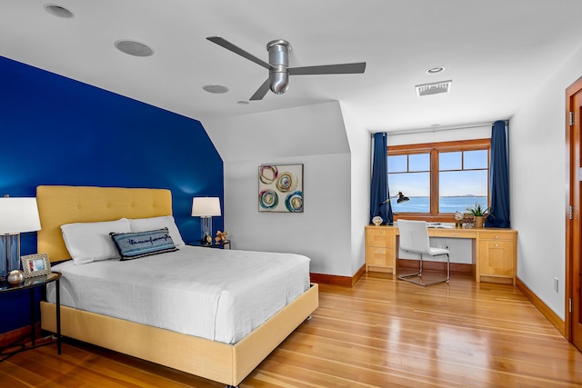
[[[172,194],[166,189],[42,185],[36,187],[36,201],[41,224],[37,250],[51,262],[71,258],[62,224],[172,214]]]

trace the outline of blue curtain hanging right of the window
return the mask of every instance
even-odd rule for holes
[[[507,124],[496,121],[491,130],[491,164],[489,166],[491,212],[486,226],[511,227],[509,223],[509,166],[507,163]]]

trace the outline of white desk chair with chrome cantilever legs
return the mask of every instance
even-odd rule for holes
[[[418,254],[420,256],[420,268],[416,274],[406,274],[398,276],[398,279],[406,282],[426,286],[437,283],[448,283],[450,277],[450,257],[447,249],[434,248],[430,246],[428,230],[425,221],[398,220],[398,230],[400,233],[400,249],[405,252]],[[447,279],[440,279],[436,282],[424,283],[422,281],[422,256],[428,254],[431,257],[447,255]],[[418,282],[414,278],[418,278]]]

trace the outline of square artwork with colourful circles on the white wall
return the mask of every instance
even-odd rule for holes
[[[303,164],[258,167],[258,211],[303,213]]]

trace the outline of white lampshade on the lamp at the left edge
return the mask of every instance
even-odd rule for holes
[[[36,198],[0,198],[0,234],[40,230]]]

